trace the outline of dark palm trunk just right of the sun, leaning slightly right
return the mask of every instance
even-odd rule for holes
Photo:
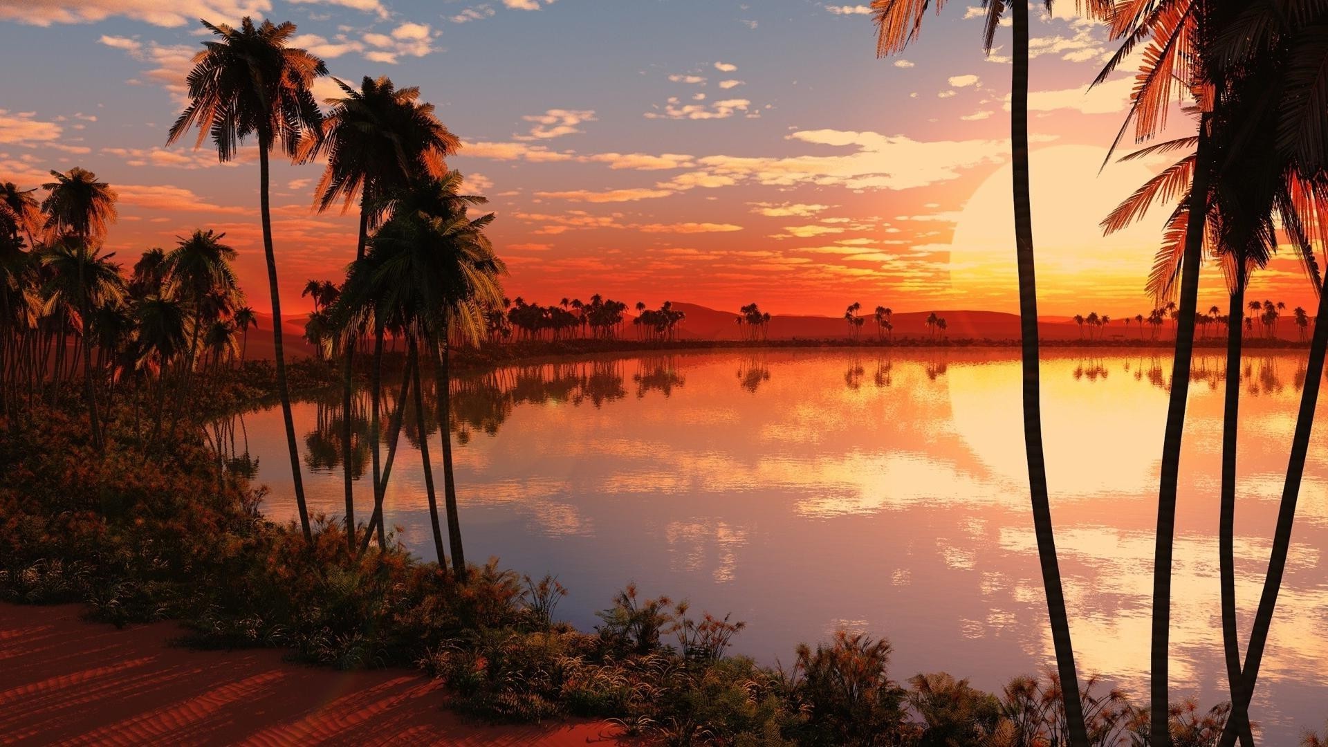
[[[1171,554],[1175,549],[1175,496],[1181,477],[1181,440],[1185,436],[1185,405],[1190,395],[1190,363],[1194,355],[1194,316],[1199,302],[1199,261],[1203,254],[1203,229],[1208,205],[1208,124],[1211,114],[1199,120],[1199,142],[1195,149],[1194,182],[1190,189],[1190,218],[1186,227],[1185,254],[1181,261],[1181,306],[1175,324],[1175,354],[1171,359],[1171,393],[1162,437],[1162,477],[1158,488],[1157,544],[1153,550],[1153,646],[1150,726],[1153,743],[1171,746],[1169,731],[1167,674],[1171,638]]]

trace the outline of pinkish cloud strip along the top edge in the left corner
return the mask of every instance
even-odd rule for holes
[[[272,11],[270,0],[0,0],[0,20],[48,27],[50,24],[90,24],[124,16],[155,27],[197,24],[201,17],[263,17]]]

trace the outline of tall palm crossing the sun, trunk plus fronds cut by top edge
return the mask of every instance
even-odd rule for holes
[[[943,4],[944,0],[936,0],[936,9],[939,11]],[[931,0],[872,0],[871,7],[875,11],[879,29],[876,53],[883,56],[899,52],[908,41],[915,40],[930,5]],[[1015,258],[1019,268],[1019,314],[1023,336],[1024,448],[1028,455],[1028,482],[1033,508],[1033,529],[1037,536],[1037,556],[1042,566],[1042,585],[1046,590],[1052,642],[1061,677],[1070,744],[1086,747],[1088,730],[1084,724],[1084,708],[1080,702],[1078,675],[1074,669],[1074,647],[1070,642],[1061,572],[1056,560],[1056,537],[1052,528],[1052,508],[1046,489],[1046,465],[1042,449],[1037,283],[1033,262],[1032,197],[1028,185],[1028,3],[984,0],[983,5],[987,8],[983,43],[988,52],[991,52],[996,28],[1000,25],[1005,9],[1011,11],[1013,36],[1011,49],[1013,62],[1011,65],[1011,153],[1015,194]],[[1112,11],[1112,5],[1108,0],[1086,0],[1086,9],[1093,16],[1106,16]]]

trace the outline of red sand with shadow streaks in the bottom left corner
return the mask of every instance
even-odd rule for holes
[[[0,603],[3,744],[612,744],[606,723],[473,724],[418,673],[337,673],[282,651],[167,645],[174,623],[116,630],[82,607]]]

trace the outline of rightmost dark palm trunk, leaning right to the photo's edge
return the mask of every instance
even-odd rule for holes
[[[1263,663],[1263,649],[1268,643],[1268,629],[1272,626],[1272,613],[1278,607],[1278,593],[1282,590],[1282,577],[1287,570],[1287,553],[1291,549],[1291,529],[1296,520],[1296,501],[1300,498],[1300,480],[1305,473],[1305,455],[1309,451],[1309,433],[1315,425],[1315,408],[1319,405],[1319,388],[1324,380],[1324,354],[1328,352],[1328,287],[1319,291],[1319,311],[1315,315],[1315,335],[1309,343],[1309,363],[1305,368],[1305,388],[1300,392],[1300,412],[1296,416],[1296,432],[1291,439],[1291,459],[1287,463],[1287,480],[1282,488],[1282,506],[1278,509],[1278,528],[1272,536],[1272,553],[1268,558],[1268,576],[1259,597],[1259,610],[1255,613],[1254,630],[1250,633],[1250,647],[1246,651],[1246,666],[1240,675],[1240,693],[1232,693],[1231,716],[1222,731],[1222,747],[1235,743],[1239,723],[1250,718],[1250,699],[1259,678],[1259,665]],[[1238,723],[1239,722],[1239,723]]]

